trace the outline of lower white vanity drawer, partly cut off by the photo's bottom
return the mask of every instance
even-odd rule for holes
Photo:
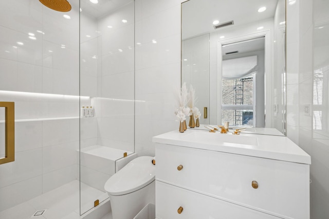
[[[156,217],[161,219],[266,219],[270,214],[156,181]],[[181,207],[181,208],[180,208]],[[180,208],[181,213],[178,213]]]

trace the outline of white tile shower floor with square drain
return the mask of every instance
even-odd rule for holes
[[[81,211],[85,212],[94,206],[94,201],[100,202],[108,198],[107,193],[81,183],[81,200],[79,181],[74,180],[57,189],[32,198],[25,203],[0,212],[0,219],[76,219]],[[34,216],[36,211],[46,211],[40,216]],[[96,219],[96,218],[95,218]],[[102,219],[112,219],[112,215],[105,215]]]

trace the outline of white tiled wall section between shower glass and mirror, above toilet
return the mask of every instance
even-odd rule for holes
[[[154,156],[152,137],[179,128],[174,93],[180,87],[180,3],[135,1],[135,43],[140,43],[135,53],[135,152],[139,156]]]

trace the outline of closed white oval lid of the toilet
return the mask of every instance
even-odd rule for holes
[[[130,161],[106,181],[104,189],[111,195],[123,195],[149,185],[155,179],[152,159],[142,156]]]

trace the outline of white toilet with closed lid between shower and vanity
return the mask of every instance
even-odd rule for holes
[[[148,203],[155,204],[153,159],[137,157],[105,182],[113,219],[132,219]]]

